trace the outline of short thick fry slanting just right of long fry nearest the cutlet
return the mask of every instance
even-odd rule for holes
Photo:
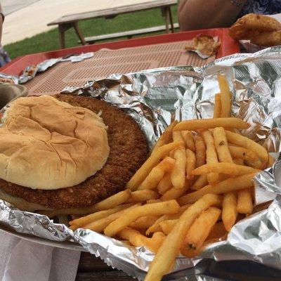
[[[155,166],[143,183],[138,187],[138,190],[155,189],[159,182],[164,178],[165,172],[170,171],[176,162],[171,157],[165,157],[157,166]]]

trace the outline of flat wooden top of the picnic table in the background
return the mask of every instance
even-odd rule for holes
[[[121,13],[131,13],[136,11],[148,10],[151,8],[176,5],[177,3],[178,0],[155,0],[155,1],[148,1],[145,3],[120,6],[116,8],[106,8],[98,11],[76,13],[72,15],[65,15],[61,18],[58,18],[57,20],[54,20],[53,22],[49,22],[48,25],[58,25],[61,23],[75,22],[77,20],[86,20],[89,18],[110,17],[114,15],[119,15]]]

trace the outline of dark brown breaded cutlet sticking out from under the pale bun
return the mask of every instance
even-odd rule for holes
[[[27,202],[51,209],[88,207],[116,192],[124,190],[126,183],[148,156],[148,147],[138,124],[122,110],[103,100],[83,96],[57,95],[58,100],[70,105],[102,112],[108,126],[110,154],[103,169],[83,183],[57,190],[32,190],[0,179],[0,188]]]

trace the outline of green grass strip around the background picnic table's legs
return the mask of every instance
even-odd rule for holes
[[[177,7],[173,6],[172,13],[174,22],[178,22],[176,10]],[[123,32],[127,30],[138,30],[141,28],[153,27],[157,25],[164,25],[164,18],[162,17],[162,13],[159,8],[136,13],[126,13],[124,15],[118,15],[116,18],[110,20],[105,20],[105,18],[96,18],[93,20],[82,20],[79,22],[80,30],[85,37]],[[77,41],[78,37],[73,29],[68,30],[65,33],[66,48],[77,46]],[[113,39],[107,41],[113,41]],[[11,59],[20,55],[27,55],[29,53],[56,50],[59,48],[58,28],[54,28],[48,32],[38,34],[34,37],[15,42],[13,44],[8,44],[4,46],[4,48],[8,52]]]

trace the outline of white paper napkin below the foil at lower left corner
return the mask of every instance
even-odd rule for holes
[[[0,230],[1,281],[74,281],[80,251],[23,240]]]

